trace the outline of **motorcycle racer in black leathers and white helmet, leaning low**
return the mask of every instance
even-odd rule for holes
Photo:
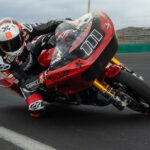
[[[55,46],[55,29],[62,22],[20,24],[11,18],[0,20],[0,56],[7,66],[1,67],[0,71],[9,71],[19,81],[18,86],[32,117],[39,117],[45,109],[39,86],[44,84],[47,71],[41,69],[43,73],[39,74],[35,69],[39,68],[37,58],[42,50]],[[31,42],[34,37],[39,38]]]

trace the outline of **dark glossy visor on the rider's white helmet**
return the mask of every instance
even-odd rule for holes
[[[0,49],[4,52],[15,52],[23,45],[23,37],[21,34],[16,36],[15,38],[0,42]]]

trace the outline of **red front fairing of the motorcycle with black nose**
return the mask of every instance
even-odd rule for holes
[[[109,60],[116,53],[118,44],[115,38],[114,27],[109,17],[104,13],[97,11],[92,14],[92,19],[90,19],[90,21],[92,21],[92,24],[90,22],[87,26],[87,28],[89,27],[90,29],[87,30],[88,34],[84,33],[87,29],[84,28],[84,31],[77,36],[80,37],[82,34],[86,34],[86,37],[84,40],[82,39],[81,43],[78,42],[77,45],[74,46],[73,44],[77,41],[77,37],[73,37],[71,45],[68,43],[68,47],[64,52],[62,51],[66,46],[61,47],[61,42],[56,46],[56,51],[58,52],[58,50],[60,50],[58,55],[59,59],[54,63],[51,63],[51,69],[48,72],[46,81],[48,88],[68,94],[76,93],[88,88],[92,85],[92,81],[101,75]],[[67,28],[67,30],[71,29]],[[103,37],[101,39],[99,38],[100,41],[98,44],[93,47],[93,51],[87,55],[82,50],[82,44],[91,40],[90,47],[94,45],[92,39],[89,39],[89,36],[93,36],[92,32],[94,32],[94,30],[96,30],[96,32],[98,31],[98,33],[100,33],[99,35],[102,35]],[[59,36],[64,35],[61,33],[63,34],[63,32],[59,32]],[[69,33],[72,32],[69,31],[67,36],[69,36]],[[66,37],[63,39],[64,41],[62,44],[65,44]],[[71,39],[71,37],[68,38]],[[72,50],[73,46],[75,49]],[[56,55],[55,58],[57,59]],[[90,77],[91,75],[92,77]]]

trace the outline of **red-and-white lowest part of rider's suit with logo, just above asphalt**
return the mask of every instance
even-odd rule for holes
[[[26,99],[26,104],[31,117],[40,117],[44,113],[45,105],[43,98],[38,93],[31,94]]]

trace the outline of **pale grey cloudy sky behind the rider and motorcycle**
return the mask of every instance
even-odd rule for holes
[[[78,18],[87,13],[88,0],[0,0],[0,18],[21,22],[46,22],[50,19]],[[91,11],[102,10],[115,28],[150,27],[150,0],[91,0]]]

